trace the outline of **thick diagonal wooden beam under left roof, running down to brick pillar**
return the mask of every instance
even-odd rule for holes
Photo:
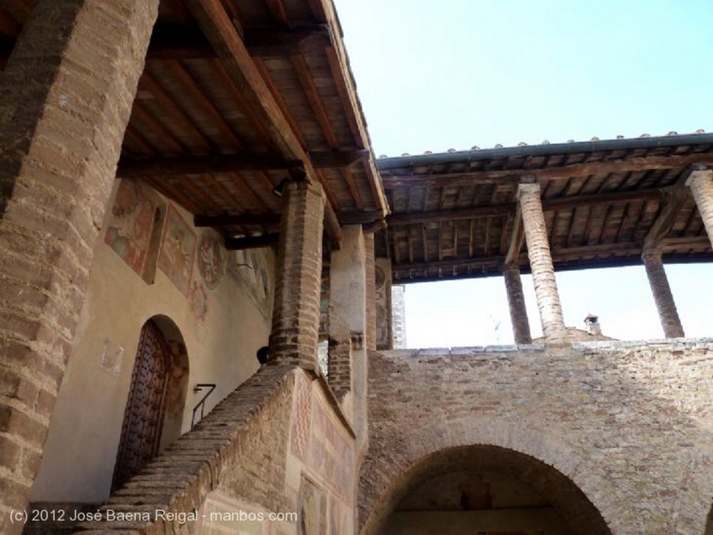
[[[220,0],[185,0],[198,26],[210,41],[218,58],[225,66],[235,86],[243,94],[247,103],[257,111],[257,115],[270,126],[272,142],[286,160],[299,160],[304,171],[313,182],[319,182],[317,172],[307,152],[300,145],[297,134],[290,127],[282,110],[270,93],[250,52],[245,47],[230,16],[225,12]],[[342,241],[342,228],[339,225],[334,207],[327,202],[324,209],[324,229],[335,249]]]

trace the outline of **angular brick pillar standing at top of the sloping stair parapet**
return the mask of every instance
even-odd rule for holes
[[[270,356],[317,370],[324,190],[288,182],[282,199]]]

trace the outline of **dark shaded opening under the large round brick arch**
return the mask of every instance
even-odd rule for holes
[[[391,507],[373,535],[603,535],[610,529],[568,477],[497,446],[463,446],[423,457],[393,483]]]

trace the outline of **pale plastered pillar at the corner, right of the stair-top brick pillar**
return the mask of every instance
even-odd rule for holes
[[[338,364],[338,373],[333,378],[329,370],[329,384],[334,384],[338,393],[351,390],[351,395],[342,398],[344,412],[352,416],[352,425],[356,433],[357,451],[366,444],[366,344],[364,333],[367,329],[367,271],[366,237],[361,226],[344,227],[342,248],[332,251],[329,274],[329,339],[330,365]],[[371,255],[373,259],[373,254]],[[373,271],[373,261],[371,263]],[[332,342],[334,341],[334,348]],[[349,344],[349,353],[339,353],[339,347]],[[334,349],[334,350],[333,350]],[[343,359],[349,358],[344,363]],[[351,384],[342,384],[351,380]]]

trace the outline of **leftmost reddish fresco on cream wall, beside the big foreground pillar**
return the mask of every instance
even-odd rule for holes
[[[153,190],[122,180],[104,234],[104,243],[141,276],[153,232],[154,214],[164,203]]]

